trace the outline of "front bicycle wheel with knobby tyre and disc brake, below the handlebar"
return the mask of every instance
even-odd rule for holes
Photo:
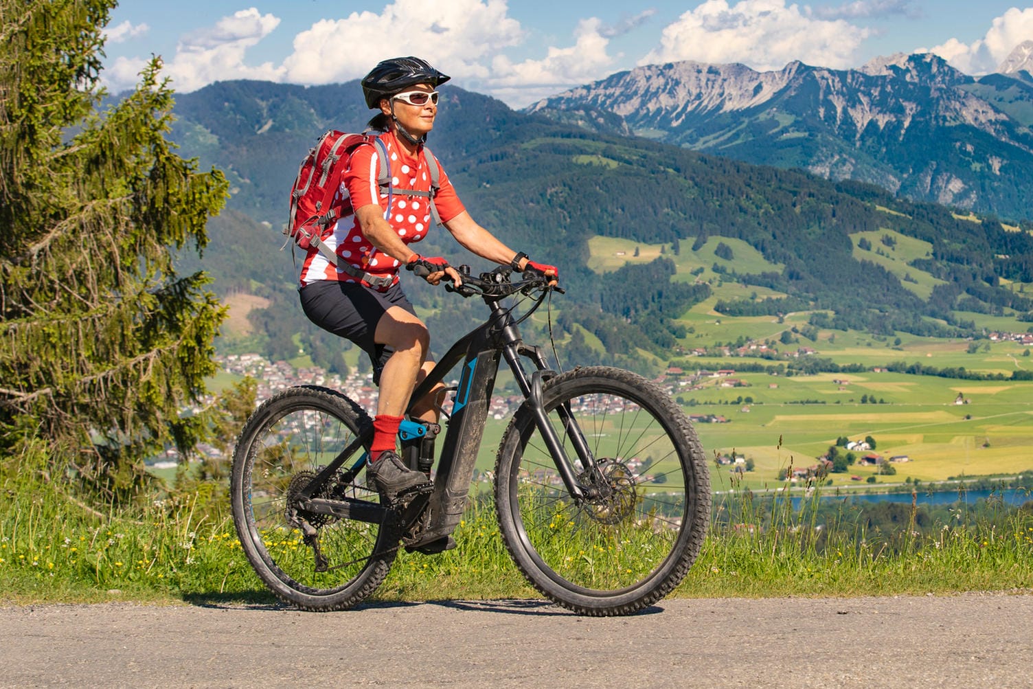
[[[525,405],[495,466],[506,547],[536,589],[580,614],[652,604],[695,562],[710,521],[707,461],[691,422],[659,385],[607,367],[549,380],[542,403],[592,497],[570,497]],[[578,458],[577,445],[590,457]]]

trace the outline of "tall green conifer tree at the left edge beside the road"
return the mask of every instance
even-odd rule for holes
[[[164,138],[157,59],[97,112],[115,4],[0,0],[0,451],[42,443],[107,500],[205,433],[182,409],[215,370],[224,311],[174,258],[205,246],[227,188]]]

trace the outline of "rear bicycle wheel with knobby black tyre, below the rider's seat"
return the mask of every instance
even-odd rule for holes
[[[299,506],[311,478],[370,424],[340,393],[291,387],[258,407],[241,433],[230,481],[237,534],[255,572],[288,603],[312,610],[351,606],[380,585],[395,560],[394,520],[340,519]],[[350,480],[338,472],[313,497],[379,511],[380,497],[366,487],[365,471]]]

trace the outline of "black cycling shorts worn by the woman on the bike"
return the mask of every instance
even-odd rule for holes
[[[351,340],[370,355],[373,382],[380,384],[380,372],[395,350],[373,341],[377,323],[393,306],[416,315],[401,283],[396,282],[386,291],[379,292],[357,282],[316,280],[302,287],[299,295],[309,320],[324,331]]]

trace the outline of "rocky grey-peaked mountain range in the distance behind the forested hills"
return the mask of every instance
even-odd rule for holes
[[[973,77],[932,54],[860,69],[677,62],[615,73],[526,112],[913,198],[1033,217],[1033,41]]]

